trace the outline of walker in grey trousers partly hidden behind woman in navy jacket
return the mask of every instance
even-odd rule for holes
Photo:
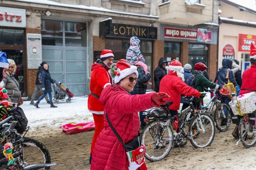
[[[43,67],[43,63],[40,64],[40,66],[38,67],[38,71],[37,71],[37,77],[35,79],[35,91],[34,93],[32,94],[32,97],[31,97],[31,100],[30,100],[30,105],[35,105],[34,103],[34,100],[35,100],[35,97],[37,95],[37,93],[39,91],[42,91],[42,71],[44,70],[44,67]],[[43,91],[42,91],[43,92]],[[47,95],[45,95],[45,100],[48,104],[50,104],[50,101],[47,97]]]

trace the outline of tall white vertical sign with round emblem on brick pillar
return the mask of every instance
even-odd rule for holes
[[[27,68],[37,69],[42,63],[41,34],[27,33]]]

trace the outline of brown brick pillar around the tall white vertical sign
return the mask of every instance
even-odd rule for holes
[[[41,29],[36,28],[26,28],[26,33],[41,33]],[[25,59],[25,65],[24,65],[24,74],[27,75],[27,81],[25,80],[25,84],[27,84],[27,96],[29,97],[29,100],[34,93],[35,90],[35,78],[37,69],[27,69],[27,55],[24,56]],[[37,97],[39,97],[42,93],[39,93]]]

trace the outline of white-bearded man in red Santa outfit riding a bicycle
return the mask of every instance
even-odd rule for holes
[[[178,114],[180,109],[180,95],[200,97],[201,93],[194,88],[188,86],[184,82],[184,68],[177,60],[172,60],[167,67],[167,75],[160,81],[159,92],[165,92],[170,96],[168,101],[173,102],[169,107],[169,112],[173,116]],[[180,146],[186,145],[187,141],[183,141]],[[177,147],[177,146],[175,146]]]

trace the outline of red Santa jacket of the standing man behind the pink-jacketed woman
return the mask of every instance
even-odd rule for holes
[[[100,96],[102,90],[112,84],[112,77],[108,72],[109,68],[100,64],[94,63],[91,67],[91,82],[90,90],[94,95]],[[103,114],[104,105],[99,103],[99,98],[96,98],[89,94],[88,97],[88,110],[94,114]]]

